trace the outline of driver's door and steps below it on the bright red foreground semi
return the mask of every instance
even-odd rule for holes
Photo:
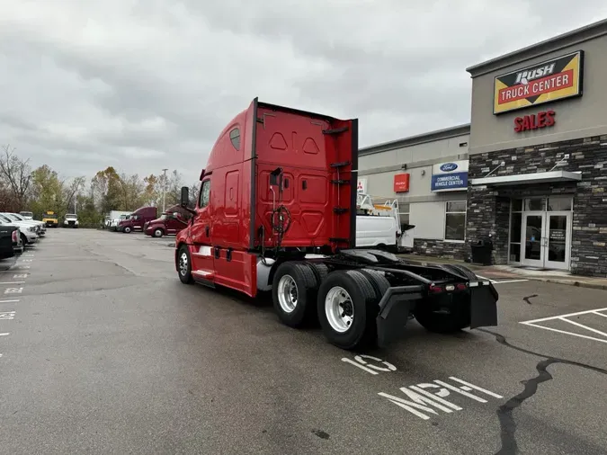
[[[197,281],[214,281],[213,248],[210,237],[210,178],[202,181],[191,238],[192,275]]]

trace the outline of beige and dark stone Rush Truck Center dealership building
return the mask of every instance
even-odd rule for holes
[[[496,264],[607,276],[607,20],[467,71],[469,126],[363,148],[367,192],[406,180],[393,194],[418,253],[464,258],[490,238]]]

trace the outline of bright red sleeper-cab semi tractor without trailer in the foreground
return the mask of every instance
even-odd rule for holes
[[[192,220],[175,240],[180,280],[252,297],[272,290],[282,323],[317,318],[343,349],[386,346],[412,317],[440,333],[496,326],[497,291],[468,268],[355,248],[357,154],[358,120],[255,98],[201,171]]]

